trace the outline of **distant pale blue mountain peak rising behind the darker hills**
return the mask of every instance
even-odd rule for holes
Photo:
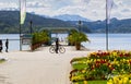
[[[62,21],[85,21],[85,22],[91,22],[91,20],[82,17],[80,15],[70,15],[70,14],[61,14],[61,15],[56,15],[52,16],[52,19],[58,19],[58,20],[62,20]]]

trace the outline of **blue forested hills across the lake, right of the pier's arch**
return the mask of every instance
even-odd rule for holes
[[[70,21],[69,23],[75,25],[78,22]],[[91,33],[105,33],[106,21],[83,22],[83,26],[86,26]],[[109,33],[131,33],[131,19],[111,19],[109,24]]]

